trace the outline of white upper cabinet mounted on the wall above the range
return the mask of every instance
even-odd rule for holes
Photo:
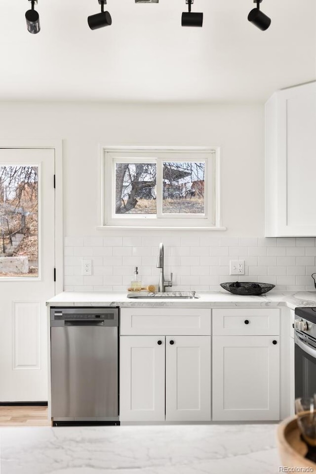
[[[266,237],[316,236],[316,82],[266,103]]]

